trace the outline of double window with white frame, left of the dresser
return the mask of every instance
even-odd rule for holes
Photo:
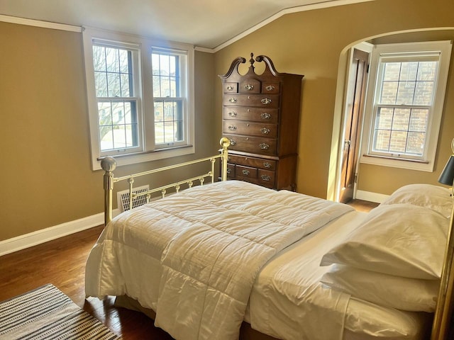
[[[194,153],[193,50],[84,30],[92,167]]]

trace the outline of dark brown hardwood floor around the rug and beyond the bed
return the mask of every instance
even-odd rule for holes
[[[360,200],[348,203],[356,210],[368,211],[377,206]],[[55,239],[45,244],[0,256],[0,301],[52,283],[109,329],[125,340],[171,340],[153,320],[140,312],[114,307],[113,297],[104,302],[85,299],[85,262],[103,226]]]

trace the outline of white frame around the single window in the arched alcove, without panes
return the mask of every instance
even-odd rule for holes
[[[412,169],[418,171],[432,172],[435,165],[436,149],[438,144],[438,132],[440,131],[441,116],[443,113],[443,102],[445,89],[448,79],[450,53],[452,42],[433,41],[433,42],[409,42],[402,44],[375,45],[372,51],[370,62],[370,86],[367,89],[365,120],[363,125],[363,138],[360,162],[365,164],[375,164],[380,166],[392,166],[402,169]],[[377,111],[376,101],[380,92],[379,81],[380,60],[382,57],[409,57],[409,55],[421,53],[439,54],[438,74],[436,75],[436,88],[433,94],[433,105],[429,109],[429,118],[426,131],[426,143],[421,159],[411,159],[411,157],[393,157],[387,155],[382,157],[372,152],[372,138],[375,128],[375,111]],[[409,57],[410,58],[410,57]],[[402,62],[406,60],[402,59]]]

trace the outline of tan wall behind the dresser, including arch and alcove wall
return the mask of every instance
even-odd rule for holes
[[[326,198],[328,173],[334,170],[330,169],[331,137],[343,49],[377,35],[423,28],[450,27],[448,35],[443,33],[433,38],[443,35],[443,39],[454,39],[453,13],[452,0],[376,0],[290,13],[216,52],[216,73],[226,73],[234,58],[242,56],[248,60],[250,52],[254,52],[270,57],[279,72],[304,74],[297,191]],[[450,114],[454,110],[453,68],[451,62],[435,172],[362,165],[360,190],[389,195],[406,183],[436,183],[454,137],[454,120]],[[221,127],[221,91],[218,80],[218,127]]]

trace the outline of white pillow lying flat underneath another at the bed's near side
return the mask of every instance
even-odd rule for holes
[[[321,282],[377,305],[413,312],[434,312],[440,285],[440,280],[402,278],[343,265],[334,265]]]

